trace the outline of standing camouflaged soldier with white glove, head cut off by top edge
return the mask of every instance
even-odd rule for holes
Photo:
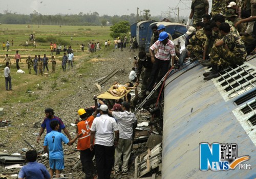
[[[192,21],[193,21],[193,26],[196,25],[197,22],[202,21],[203,15],[208,14],[208,11],[209,11],[208,0],[193,0],[193,2],[191,3],[191,12],[186,24],[187,28]]]

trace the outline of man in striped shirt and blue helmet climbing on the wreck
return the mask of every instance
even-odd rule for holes
[[[158,49],[155,54],[155,49]],[[151,61],[154,63],[150,78],[148,79],[148,86],[146,90],[146,95],[152,90],[160,70],[159,80],[167,73],[170,65],[170,59],[172,59],[172,68],[174,68],[174,57],[175,57],[175,44],[168,39],[168,34],[166,32],[161,32],[159,34],[158,41],[156,41],[150,47]]]

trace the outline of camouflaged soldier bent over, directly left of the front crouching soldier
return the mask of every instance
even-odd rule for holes
[[[189,45],[187,45],[188,57],[191,57],[191,55],[196,58],[202,57],[206,39],[204,29],[198,30],[196,34],[189,39]]]

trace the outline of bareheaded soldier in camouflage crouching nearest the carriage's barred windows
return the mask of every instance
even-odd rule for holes
[[[206,76],[204,80],[216,78],[219,75],[218,66],[242,65],[247,55],[243,41],[236,33],[230,32],[228,23],[222,23],[219,30],[224,37],[217,39],[211,49],[212,71],[203,74]]]

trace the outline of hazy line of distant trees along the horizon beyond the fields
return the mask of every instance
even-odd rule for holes
[[[149,11],[147,12],[149,13]],[[159,21],[163,17],[154,17],[147,14],[147,16],[138,17],[136,14],[130,15],[102,15],[99,16],[99,13],[87,13],[83,14],[69,14],[69,15],[42,15],[36,11],[29,15],[16,14],[11,12],[5,12],[4,14],[0,13],[0,22],[2,24],[45,24],[45,25],[108,25],[115,24],[121,21],[128,21],[130,24],[136,22],[137,20],[146,20],[150,17],[152,20]]]

